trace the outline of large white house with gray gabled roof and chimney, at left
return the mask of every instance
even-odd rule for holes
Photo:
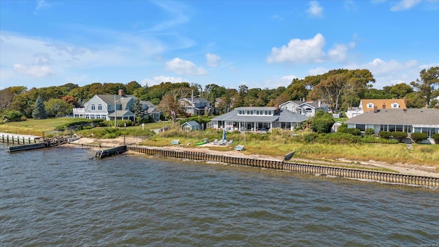
[[[95,95],[82,108],[73,108],[73,117],[83,117],[86,119],[131,119],[135,120],[136,115],[132,112],[134,95],[125,95],[123,90],[119,90],[117,95]],[[144,117],[152,116],[154,121],[160,119],[160,111],[148,101],[140,101],[144,112]]]

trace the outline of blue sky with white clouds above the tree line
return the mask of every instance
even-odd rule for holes
[[[275,89],[331,69],[383,86],[439,66],[439,1],[0,1],[0,89]]]

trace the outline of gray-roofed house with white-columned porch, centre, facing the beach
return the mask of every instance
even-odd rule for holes
[[[238,107],[210,121],[208,128],[226,130],[268,131],[272,128],[293,130],[308,117],[276,107]]]

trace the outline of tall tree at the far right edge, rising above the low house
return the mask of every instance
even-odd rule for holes
[[[419,72],[419,79],[416,82],[410,82],[416,91],[425,97],[427,107],[430,104],[431,98],[439,95],[439,67],[431,67],[428,70],[423,69]]]

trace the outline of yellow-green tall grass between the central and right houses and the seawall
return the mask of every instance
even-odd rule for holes
[[[313,161],[332,161],[340,159],[348,161],[379,161],[385,163],[404,163],[410,165],[431,165],[439,167],[439,145],[414,144],[413,150],[407,145],[358,143],[358,144],[322,144],[295,141],[290,134],[244,134],[227,133],[227,139],[233,139],[233,145],[226,147],[209,147],[211,150],[234,150],[235,145],[245,145],[246,154],[262,154],[268,156],[285,156],[296,150],[295,158],[306,158]],[[171,130],[143,142],[143,145],[169,146],[171,140],[180,139],[180,143],[187,145],[208,138],[209,141],[221,139],[222,132],[206,130],[204,132],[180,132]],[[337,161],[340,163],[340,161]],[[357,165],[355,165],[357,166]]]

